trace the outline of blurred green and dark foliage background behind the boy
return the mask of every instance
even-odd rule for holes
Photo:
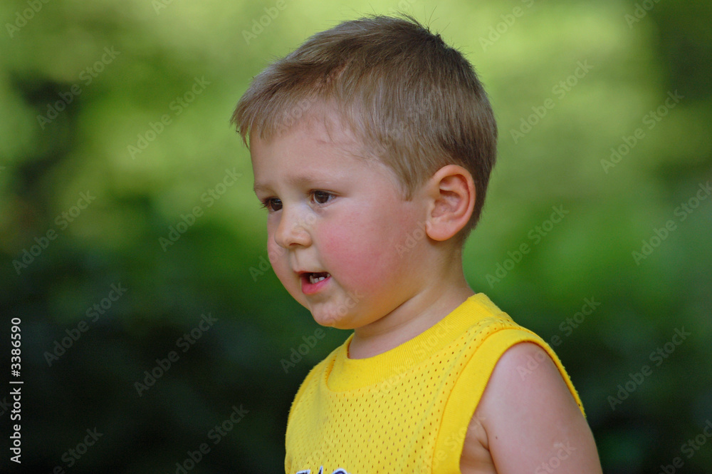
[[[229,118],[271,58],[395,11],[496,111],[473,289],[554,343],[606,473],[711,472],[712,6],[667,0],[4,1],[0,344],[9,374],[21,318],[24,384],[20,466],[2,377],[2,470],[175,473],[202,443],[190,472],[283,470],[295,391],[349,332],[300,346],[318,325],[266,264]]]

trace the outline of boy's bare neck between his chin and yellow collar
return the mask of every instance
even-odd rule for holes
[[[462,274],[451,281],[440,280],[381,319],[356,328],[349,359],[365,359],[394,349],[437,324],[473,294]]]

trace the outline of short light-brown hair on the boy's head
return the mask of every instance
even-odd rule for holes
[[[497,125],[466,58],[402,16],[345,21],[311,36],[253,78],[232,123],[249,147],[251,135],[270,140],[314,103],[331,105],[365,150],[394,170],[407,199],[444,165],[461,165],[476,190],[464,242],[482,212]]]

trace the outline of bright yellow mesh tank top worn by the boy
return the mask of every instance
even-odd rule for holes
[[[292,403],[286,474],[459,474],[468,424],[495,364],[519,342],[561,361],[484,294],[474,294],[413,339],[349,359],[351,334],[308,373]],[[524,371],[534,369],[537,361]]]

